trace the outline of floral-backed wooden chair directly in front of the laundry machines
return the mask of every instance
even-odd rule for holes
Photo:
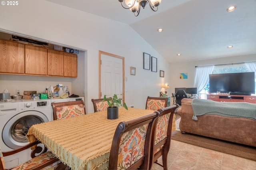
[[[53,120],[85,115],[83,100],[52,103]]]

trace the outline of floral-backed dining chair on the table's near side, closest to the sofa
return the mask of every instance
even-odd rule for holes
[[[153,163],[162,166],[164,170],[168,169],[167,166],[167,156],[171,144],[172,135],[172,119],[174,111],[179,107],[178,104],[166,107],[164,109],[159,109],[160,115],[157,119],[157,123],[152,130],[152,141],[151,141],[151,151],[150,151],[150,168],[152,168]],[[158,158],[162,156],[163,164],[157,162]]]

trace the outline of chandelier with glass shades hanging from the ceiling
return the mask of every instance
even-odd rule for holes
[[[161,0],[118,0],[122,7],[125,9],[130,9],[135,16],[140,14],[140,6],[144,9],[145,6],[149,3],[150,8],[153,11],[158,10],[158,6],[161,3]]]

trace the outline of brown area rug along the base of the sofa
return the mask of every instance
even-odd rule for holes
[[[218,140],[196,134],[182,134],[177,130],[172,132],[171,139],[256,161],[256,147],[253,146],[227,142],[224,140]]]

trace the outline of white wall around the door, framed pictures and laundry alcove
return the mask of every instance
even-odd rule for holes
[[[130,26],[99,16],[60,6],[45,0],[26,0],[18,6],[1,6],[0,29],[39,38],[65,46],[84,49],[82,78],[0,75],[0,91],[6,87],[15,93],[16,85],[26,90],[43,90],[46,85],[63,83],[73,92],[84,91],[86,112],[92,113],[92,98],[98,98],[98,51],[125,57],[126,104],[145,108],[147,96],[159,96],[165,82],[170,83],[169,64]],[[143,52],[158,59],[158,72],[143,69]],[[80,64],[80,63],[79,63]],[[136,75],[130,75],[130,66]],[[160,77],[164,70],[165,77]],[[78,73],[79,74],[79,73]],[[24,80],[24,77],[25,80]],[[32,83],[29,83],[32,82]],[[84,82],[84,83],[83,83]],[[83,83],[79,85],[80,83]],[[74,87],[74,88],[73,88]]]

